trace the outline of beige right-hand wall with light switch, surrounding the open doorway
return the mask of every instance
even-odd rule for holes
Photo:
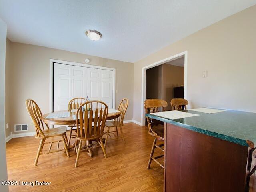
[[[256,6],[204,28],[134,64],[134,120],[141,122],[142,67],[188,51],[188,107],[256,112]],[[202,78],[202,71],[208,77]]]

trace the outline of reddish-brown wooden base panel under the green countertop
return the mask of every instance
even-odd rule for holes
[[[165,124],[165,192],[244,192],[248,148]]]

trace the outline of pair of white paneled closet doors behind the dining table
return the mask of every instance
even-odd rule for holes
[[[67,110],[74,97],[101,100],[113,108],[113,71],[54,63],[53,108]]]

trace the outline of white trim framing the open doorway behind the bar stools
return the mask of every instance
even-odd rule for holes
[[[142,126],[145,125],[145,111],[144,111],[144,101],[146,100],[146,70],[152,67],[164,64],[166,62],[178,59],[184,56],[184,98],[187,99],[187,81],[188,81],[188,51],[181,52],[179,54],[170,56],[148,66],[142,68],[141,75],[141,121],[140,124]]]

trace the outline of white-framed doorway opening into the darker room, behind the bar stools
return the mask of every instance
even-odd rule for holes
[[[144,101],[163,99],[171,110],[172,98],[185,98],[187,90],[187,51],[142,68],[141,125],[146,123]]]

